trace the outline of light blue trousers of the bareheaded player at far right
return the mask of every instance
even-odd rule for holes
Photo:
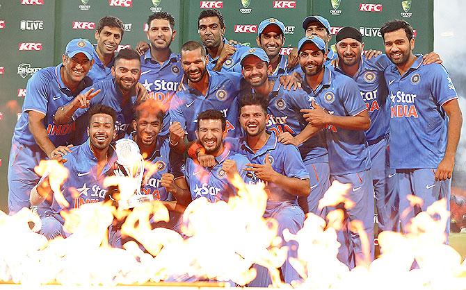
[[[403,229],[409,225],[416,214],[426,211],[427,207],[442,198],[447,200],[447,210],[450,210],[451,179],[436,181],[435,170],[432,168],[396,169],[399,178],[400,219]],[[411,194],[422,198],[424,201],[422,205],[412,207],[407,198]],[[448,237],[449,221],[445,232]]]

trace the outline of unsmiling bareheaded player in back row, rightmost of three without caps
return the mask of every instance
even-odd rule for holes
[[[198,17],[200,40],[207,49],[207,69],[213,71],[241,71],[239,58],[249,48],[241,44],[228,44],[225,38],[225,20],[222,12],[206,9]]]

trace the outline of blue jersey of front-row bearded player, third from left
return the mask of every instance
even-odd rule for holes
[[[236,194],[236,188],[228,181],[227,173],[222,169],[225,160],[234,160],[241,178],[246,183],[250,182],[250,177],[243,170],[246,168],[246,164],[249,163],[248,158],[225,146],[223,153],[215,157],[215,159],[217,164],[212,168],[201,167],[191,158],[186,160],[185,177],[193,200],[205,197],[214,203],[216,201],[228,201],[230,196]]]

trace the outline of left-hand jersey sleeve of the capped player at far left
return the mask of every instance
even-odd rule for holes
[[[41,71],[35,73],[26,85],[26,96],[24,97],[23,112],[35,111],[47,114],[49,103],[49,80]]]

